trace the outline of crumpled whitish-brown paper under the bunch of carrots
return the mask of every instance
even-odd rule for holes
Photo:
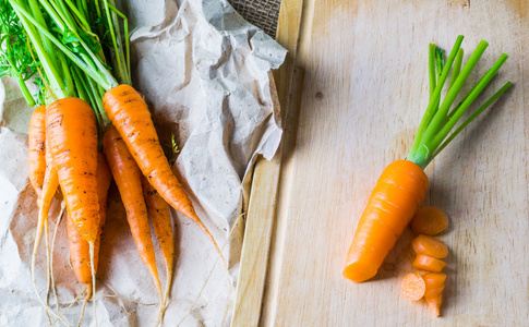
[[[248,199],[244,181],[256,156],[270,159],[281,138],[270,71],[282,63],[286,51],[244,22],[226,0],[134,0],[120,5],[134,28],[134,86],[152,109],[160,140],[170,142],[175,134],[180,149],[175,171],[199,216],[219,246],[225,246],[229,266],[228,276],[200,228],[172,210],[177,257],[164,326],[177,326],[182,319],[182,326],[220,326],[237,286],[240,217]],[[37,196],[27,179],[27,125],[33,108],[25,105],[16,83],[7,77],[2,83],[0,326],[47,326],[49,318],[34,292],[29,270],[37,219]],[[50,211],[50,233],[60,199],[56,196]],[[165,268],[156,251],[164,287]],[[64,220],[58,227],[53,278],[62,312],[83,291],[69,265]],[[45,296],[44,240],[36,280]],[[137,255],[116,185],[109,193],[97,283],[99,326],[154,326],[158,295]],[[55,307],[52,293],[49,299]],[[77,323],[81,302],[64,314],[72,325]],[[231,306],[225,326],[230,311]],[[83,326],[95,326],[92,301]]]

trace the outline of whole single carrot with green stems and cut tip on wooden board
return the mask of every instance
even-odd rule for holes
[[[435,45],[430,45],[430,102],[418,126],[408,156],[405,160],[394,161],[384,169],[360,217],[342,272],[344,277],[352,281],[362,282],[376,275],[389,250],[393,249],[406,226],[422,205],[429,187],[424,168],[465,126],[512,85],[510,82],[507,82],[453,132],[455,124],[507,60],[507,55],[502,55],[471,90],[462,97],[464,100],[454,105],[465,82],[488,47],[488,43],[482,40],[459,71],[460,65],[454,65],[454,62],[456,57],[458,63],[462,60],[462,49],[460,49],[462,38],[462,36],[457,37],[446,61],[442,51]],[[438,55],[440,52],[441,55]],[[440,68],[438,74],[435,72],[435,66]],[[452,69],[453,66],[454,69]],[[446,96],[442,100],[441,95],[450,71],[454,80],[449,83]]]

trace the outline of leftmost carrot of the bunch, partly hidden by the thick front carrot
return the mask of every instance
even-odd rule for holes
[[[27,135],[29,182],[37,192],[43,191],[46,174],[46,106],[40,106],[32,113]]]

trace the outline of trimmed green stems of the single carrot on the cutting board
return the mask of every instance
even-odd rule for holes
[[[433,158],[454,140],[472,120],[485,110],[494,100],[496,100],[512,83],[507,82],[491,98],[489,98],[478,110],[467,118],[449,136],[456,123],[468,110],[470,105],[477,99],[492,77],[500,70],[502,64],[507,60],[507,55],[503,53],[496,63],[481,77],[472,89],[462,97],[460,102],[453,107],[457,95],[460,93],[465,82],[474,69],[479,59],[485,51],[489,44],[481,40],[474,52],[470,56],[467,63],[461,69],[462,36],[458,36],[454,48],[446,60],[443,61],[443,52],[435,45],[430,45],[429,72],[430,72],[430,102],[426,111],[419,124],[411,150],[407,156],[410,160],[421,168],[425,168]],[[450,82],[447,87],[446,96],[441,101],[441,92],[446,83],[452,70]],[[437,71],[437,73],[435,72]],[[450,110],[452,108],[452,110]],[[448,136],[448,137],[447,137]]]

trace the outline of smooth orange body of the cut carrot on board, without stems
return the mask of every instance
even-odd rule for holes
[[[411,161],[397,160],[384,169],[354,232],[344,277],[362,282],[376,275],[422,205],[428,186],[426,174]]]

